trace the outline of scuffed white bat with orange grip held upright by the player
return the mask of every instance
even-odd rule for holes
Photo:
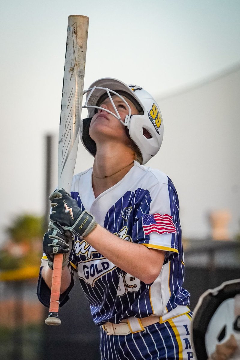
[[[58,188],[71,190],[77,158],[85,73],[89,18],[68,17],[63,93],[58,141]],[[54,256],[53,278],[47,325],[60,325],[58,317],[63,254]]]

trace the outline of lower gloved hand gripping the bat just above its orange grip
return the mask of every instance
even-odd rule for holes
[[[64,231],[61,226],[50,222],[48,231],[43,238],[43,251],[47,257],[47,263],[53,270],[53,258],[55,254],[63,253],[63,267],[68,264],[68,257],[72,250],[73,235],[70,231]]]

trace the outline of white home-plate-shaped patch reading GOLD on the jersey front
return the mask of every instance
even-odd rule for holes
[[[80,264],[78,264],[77,271],[80,279],[83,279],[86,283],[94,286],[96,280],[116,267],[117,266],[108,259],[102,257],[80,262]]]

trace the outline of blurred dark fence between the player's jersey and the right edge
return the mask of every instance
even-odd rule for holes
[[[191,310],[207,289],[240,278],[239,241],[194,240],[185,244],[184,256],[184,287],[191,294]]]

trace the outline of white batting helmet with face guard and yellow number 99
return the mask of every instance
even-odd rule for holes
[[[130,138],[142,154],[142,164],[157,154],[163,141],[163,121],[157,103],[147,91],[140,86],[126,85],[114,78],[102,78],[91,84],[89,89],[84,91],[84,94],[87,94],[87,98],[83,108],[88,109],[88,117],[81,120],[80,136],[83,145],[92,156],[96,154],[96,144],[89,135],[90,122],[97,109],[103,109],[99,105],[107,97],[112,102],[115,113],[105,108],[103,110],[115,116],[123,126],[126,126]],[[119,96],[127,105],[128,115],[124,122],[113,103],[111,98],[113,95]],[[122,96],[132,101],[139,114],[131,115],[131,109]],[[148,138],[144,135],[144,129],[150,134]]]

